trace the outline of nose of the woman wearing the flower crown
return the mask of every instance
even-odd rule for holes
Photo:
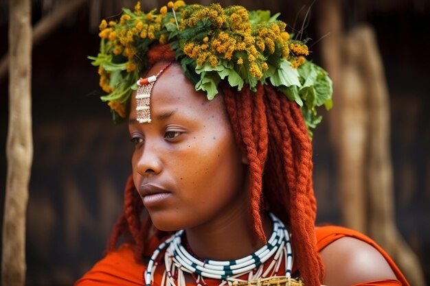
[[[155,144],[150,144],[147,141],[142,150],[135,151],[133,156],[136,157],[133,169],[142,176],[159,174],[163,169],[159,150]]]

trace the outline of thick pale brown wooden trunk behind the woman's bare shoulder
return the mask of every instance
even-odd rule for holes
[[[424,286],[420,263],[396,228],[389,95],[376,39],[371,27],[344,32],[340,3],[319,3],[319,29],[330,32],[321,47],[335,83],[330,133],[344,223],[385,248],[411,285]]]

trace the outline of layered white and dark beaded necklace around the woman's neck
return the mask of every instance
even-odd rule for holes
[[[223,285],[237,285],[247,283],[247,281],[257,281],[260,279],[276,276],[276,273],[285,261],[285,276],[288,281],[291,278],[293,268],[293,250],[291,248],[290,235],[286,227],[278,217],[269,213],[273,221],[273,233],[267,241],[253,254],[242,259],[232,261],[215,261],[211,259],[196,259],[181,243],[184,230],[179,230],[172,237],[163,241],[152,254],[148,267],[144,272],[146,286],[151,286],[154,272],[157,267],[157,258],[161,251],[166,248],[164,263],[166,270],[161,278],[160,286],[185,286],[184,272],[192,274],[196,285],[206,285],[204,278],[219,279]],[[264,263],[272,259],[269,266],[264,269]],[[247,280],[240,279],[240,276],[248,275]]]

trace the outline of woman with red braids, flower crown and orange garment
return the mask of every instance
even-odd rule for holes
[[[100,25],[93,63],[133,176],[76,285],[408,285],[367,237],[315,228],[308,128],[331,86],[306,45],[267,12],[168,6]]]

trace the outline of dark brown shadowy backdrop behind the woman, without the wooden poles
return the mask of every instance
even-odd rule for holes
[[[189,1],[190,2],[190,1]],[[1,3],[1,1],[0,1]],[[133,2],[134,3],[134,2]],[[237,3],[237,2],[236,2]],[[302,4],[256,1],[248,8],[271,8],[293,25]],[[307,4],[310,1],[306,2]],[[0,55],[7,49],[7,9],[1,3]],[[321,5],[321,1],[317,3]],[[151,6],[155,7],[155,6]],[[33,21],[41,19],[34,3]],[[315,39],[317,9],[308,36]],[[347,27],[374,27],[387,75],[392,115],[392,156],[398,228],[416,251],[430,283],[430,3],[429,1],[348,1]],[[313,58],[319,59],[318,44]],[[27,212],[27,284],[70,285],[102,257],[106,237],[122,208],[122,187],[131,171],[133,146],[126,126],[111,123],[100,103],[97,70],[87,55],[98,51],[89,28],[89,8],[34,47],[34,163]],[[336,104],[336,103],[335,103]],[[5,150],[8,78],[0,79],[0,150]],[[341,224],[332,150],[324,121],[315,132],[315,191],[319,222]],[[5,186],[5,152],[0,185]],[[4,187],[0,191],[3,202]],[[3,204],[0,204],[3,213]]]

